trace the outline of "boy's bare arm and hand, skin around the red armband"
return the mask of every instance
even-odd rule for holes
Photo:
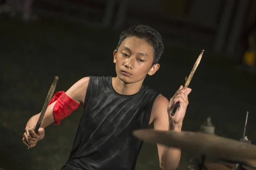
[[[84,77],[72,85],[65,93],[79,104],[84,105],[84,99],[89,83],[89,77]],[[34,147],[36,142],[44,138],[44,128],[54,122],[53,107],[57,101],[53,102],[47,107],[44,114],[43,121],[38,130],[38,134],[34,132],[35,125],[38,121],[40,113],[32,116],[26,124],[25,133],[23,135],[23,142],[29,147]]]

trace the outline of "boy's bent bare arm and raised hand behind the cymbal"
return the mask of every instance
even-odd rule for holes
[[[186,114],[186,108],[189,104],[188,95],[191,88],[180,88],[174,96],[168,101],[166,97],[159,95],[155,99],[152,113],[154,119],[154,128],[156,130],[175,130],[181,131],[182,122]],[[179,102],[180,106],[174,116],[171,116],[175,103]],[[174,147],[165,147],[157,144],[160,167],[163,170],[175,170],[180,163],[180,149]]]

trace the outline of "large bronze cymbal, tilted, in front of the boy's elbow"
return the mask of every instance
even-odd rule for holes
[[[133,134],[145,142],[180,148],[212,158],[238,162],[250,160],[250,165],[256,167],[256,145],[253,144],[201,132],[145,129],[134,130]]]

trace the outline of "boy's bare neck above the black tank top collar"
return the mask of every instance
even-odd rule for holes
[[[122,95],[133,95],[140,91],[143,80],[134,83],[125,83],[118,77],[112,77],[112,86],[114,90]]]

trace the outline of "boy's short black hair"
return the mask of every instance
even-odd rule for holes
[[[162,36],[158,31],[156,31],[154,28],[149,27],[148,25],[131,26],[125,31],[122,31],[119,36],[116,51],[120,47],[122,41],[125,40],[125,38],[133,36],[144,39],[151,47],[154,48],[153,65],[158,63],[164,49]]]

